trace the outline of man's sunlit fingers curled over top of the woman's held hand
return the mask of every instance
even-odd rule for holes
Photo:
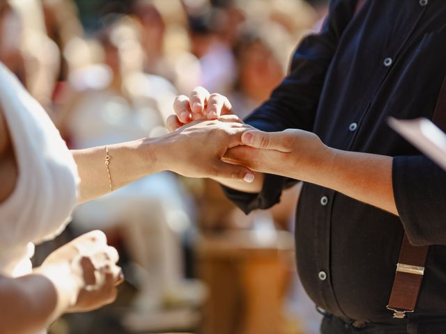
[[[213,93],[203,87],[196,87],[190,95],[179,95],[174,102],[175,115],[167,118],[167,128],[174,132],[194,120],[216,120],[220,116],[232,115],[232,106],[223,95]],[[241,122],[237,116],[231,118]]]

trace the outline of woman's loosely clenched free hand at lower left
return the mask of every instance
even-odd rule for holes
[[[116,265],[118,252],[107,245],[105,234],[92,231],[51,253],[39,273],[51,280],[65,274],[62,280],[72,282],[70,307],[67,312],[86,312],[112,303],[116,285],[122,282],[122,271]]]

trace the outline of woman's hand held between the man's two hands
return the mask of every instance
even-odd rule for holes
[[[226,151],[240,145],[242,134],[250,129],[249,125],[231,122],[231,116],[194,121],[160,138],[153,146],[154,156],[161,170],[172,170],[188,177],[252,183],[252,170],[222,161]]]

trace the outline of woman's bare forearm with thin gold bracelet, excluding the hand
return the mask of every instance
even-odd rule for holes
[[[139,139],[127,143],[108,145],[109,172],[112,189],[116,190],[146,175],[157,173],[153,145],[156,139]],[[81,178],[79,200],[86,202],[110,191],[110,180],[105,166],[105,147],[72,150]]]

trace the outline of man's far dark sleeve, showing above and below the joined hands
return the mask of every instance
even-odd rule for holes
[[[288,76],[269,100],[254,110],[245,122],[266,132],[284,129],[312,131],[325,74],[339,38],[355,13],[356,0],[330,1],[328,18],[319,33],[304,38],[291,60]],[[261,193],[243,193],[223,187],[226,196],[245,213],[268,209],[280,200],[282,190],[295,180],[266,175]]]

